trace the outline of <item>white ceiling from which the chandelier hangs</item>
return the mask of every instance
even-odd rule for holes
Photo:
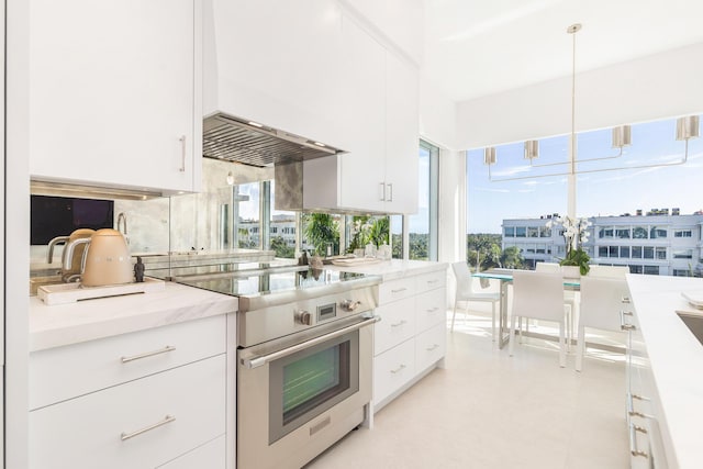
[[[703,42],[700,0],[424,0],[423,70],[455,101]]]

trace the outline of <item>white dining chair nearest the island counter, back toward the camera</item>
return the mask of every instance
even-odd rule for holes
[[[629,289],[625,279],[581,278],[581,309],[576,354],[576,370],[581,371],[585,354],[585,327],[622,332],[620,312],[626,308]]]

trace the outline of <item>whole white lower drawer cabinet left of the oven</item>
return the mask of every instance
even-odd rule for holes
[[[215,316],[31,354],[30,468],[224,468],[225,350]]]

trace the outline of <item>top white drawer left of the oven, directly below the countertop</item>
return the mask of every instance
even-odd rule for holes
[[[32,353],[30,409],[222,354],[225,332],[220,315]]]

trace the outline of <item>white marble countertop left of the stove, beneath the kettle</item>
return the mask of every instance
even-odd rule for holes
[[[46,305],[30,298],[30,351],[159,327],[237,310],[237,299],[166,282],[163,291]]]

